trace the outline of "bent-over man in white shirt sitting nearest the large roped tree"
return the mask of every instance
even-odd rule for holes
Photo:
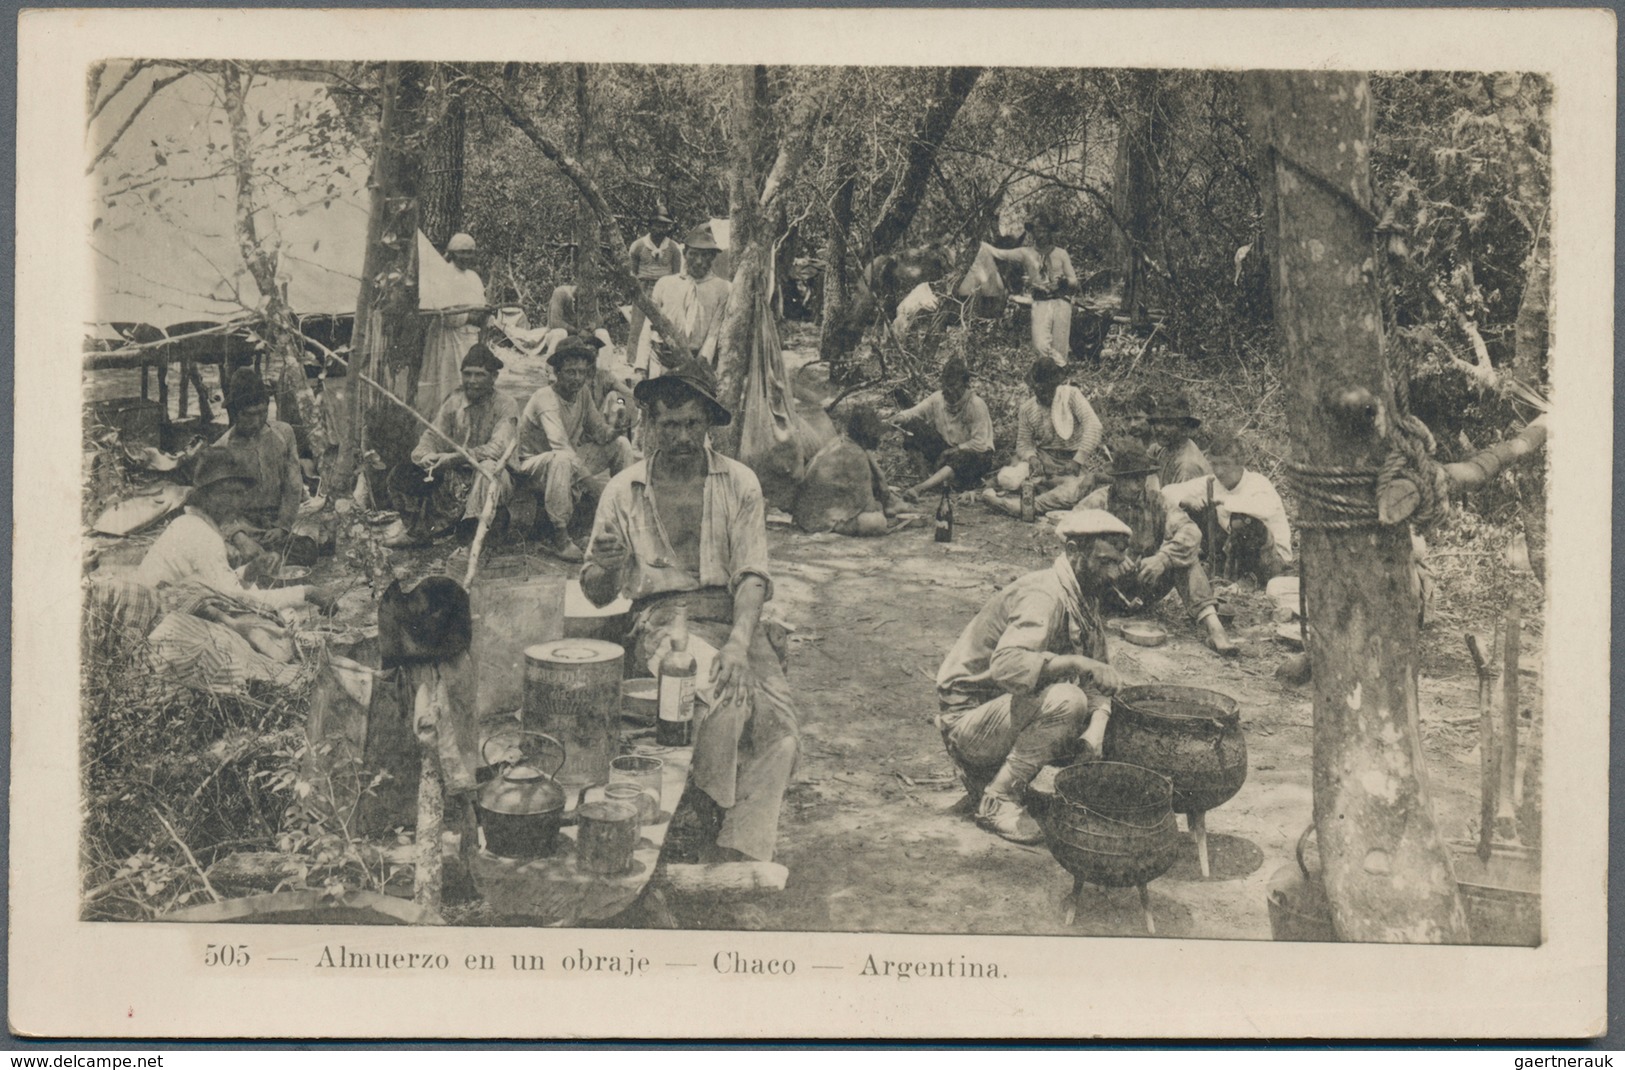
[[[1237,439],[1220,434],[1207,449],[1212,476],[1162,488],[1162,496],[1185,509],[1207,540],[1209,519],[1219,545],[1207,546],[1207,564],[1232,576],[1253,576],[1263,587],[1292,566],[1292,525],[1276,485],[1242,460]],[[1212,517],[1209,517],[1212,511]]]

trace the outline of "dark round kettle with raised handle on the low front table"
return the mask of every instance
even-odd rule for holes
[[[546,756],[531,753],[528,743],[551,743],[557,761],[544,769]],[[491,745],[509,746],[507,756],[492,758]],[[505,859],[540,859],[552,854],[564,824],[564,789],[554,776],[564,764],[564,743],[543,732],[502,732],[479,748],[488,766],[497,774],[486,781],[474,800],[479,828],[486,834],[486,850]],[[587,794],[583,787],[582,795]],[[580,805],[580,797],[577,797]]]

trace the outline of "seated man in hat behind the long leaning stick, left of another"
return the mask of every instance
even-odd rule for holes
[[[463,385],[440,403],[434,429],[426,428],[411,450],[411,463],[390,472],[390,498],[406,532],[385,540],[385,546],[422,545],[462,520],[478,522],[488,493],[497,494],[497,506],[507,501],[510,481],[502,462],[518,428],[518,407],[497,392],[499,371],[502,361],[483,341],[468,350]],[[465,454],[479,462],[481,472]]]

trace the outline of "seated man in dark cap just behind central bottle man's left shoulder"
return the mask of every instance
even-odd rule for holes
[[[570,540],[577,509],[595,509],[609,476],[632,463],[632,444],[616,434],[590,389],[598,350],[580,337],[566,338],[548,358],[557,381],[536,390],[518,418],[514,472],[541,494],[552,525],[552,553],[580,561]]]

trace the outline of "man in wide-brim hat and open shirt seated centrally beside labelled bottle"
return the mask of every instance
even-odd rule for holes
[[[733,416],[702,363],[670,368],[635,395],[648,459],[609,480],[598,501],[582,590],[595,605],[632,600],[640,660],[658,655],[687,610],[700,676],[686,802],[720,816],[702,860],[772,860],[800,729],[760,620],[772,597],[762,488],[707,441]]]

